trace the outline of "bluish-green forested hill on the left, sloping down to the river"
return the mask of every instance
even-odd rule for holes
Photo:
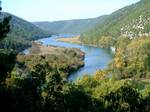
[[[2,12],[0,18],[3,19],[6,16],[11,17],[11,31],[7,35],[7,38],[0,42],[0,48],[23,50],[31,45],[31,40],[50,36],[50,33],[12,14]]]

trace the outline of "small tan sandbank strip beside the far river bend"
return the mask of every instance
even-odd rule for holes
[[[82,44],[80,41],[80,36],[74,36],[74,37],[69,37],[69,38],[58,38],[57,41],[61,42],[69,42],[69,43],[75,43],[75,44]]]

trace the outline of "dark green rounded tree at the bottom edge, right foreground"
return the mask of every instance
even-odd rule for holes
[[[141,112],[139,110],[140,94],[129,85],[122,86],[115,92],[104,96],[106,110],[111,112]]]

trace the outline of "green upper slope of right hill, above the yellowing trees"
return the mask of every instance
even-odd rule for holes
[[[102,37],[136,38],[150,35],[150,1],[141,0],[124,7],[108,16],[105,21],[83,33],[81,40],[85,43],[97,42]]]

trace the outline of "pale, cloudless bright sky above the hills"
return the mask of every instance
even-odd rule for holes
[[[82,19],[110,14],[140,0],[1,0],[3,11],[28,21]]]

